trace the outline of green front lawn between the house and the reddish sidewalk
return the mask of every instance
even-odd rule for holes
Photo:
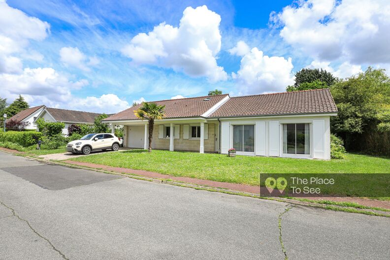
[[[115,167],[142,169],[173,176],[259,185],[259,173],[390,173],[390,159],[347,154],[345,159],[319,161],[193,152],[130,150],[72,159]]]

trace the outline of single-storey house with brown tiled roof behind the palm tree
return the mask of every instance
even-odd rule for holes
[[[239,155],[330,159],[331,116],[337,108],[329,89],[244,97],[229,95],[153,101],[165,105],[155,121],[155,149]],[[148,147],[148,122],[130,107],[102,122],[125,128],[124,146]]]

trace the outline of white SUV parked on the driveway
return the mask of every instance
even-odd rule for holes
[[[120,140],[112,133],[90,133],[81,137],[80,140],[74,140],[66,145],[66,151],[73,154],[90,154],[95,150],[113,151],[119,150]]]

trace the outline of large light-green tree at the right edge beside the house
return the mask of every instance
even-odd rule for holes
[[[331,87],[338,115],[332,132],[343,137],[347,150],[390,155],[390,77],[368,67]]]

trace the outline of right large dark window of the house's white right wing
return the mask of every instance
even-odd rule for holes
[[[310,155],[310,124],[283,124],[283,153]]]

